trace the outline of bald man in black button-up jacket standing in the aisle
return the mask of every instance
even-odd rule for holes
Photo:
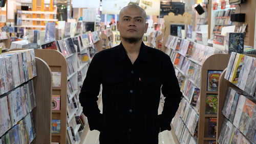
[[[158,143],[170,130],[182,93],[169,56],[142,42],[145,11],[137,5],[121,9],[117,30],[121,43],[97,53],[79,95],[90,130],[100,131],[100,144]],[[102,84],[103,112],[96,101]],[[160,88],[165,98],[158,115]]]

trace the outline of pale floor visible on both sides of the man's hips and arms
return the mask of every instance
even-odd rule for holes
[[[102,104],[99,105],[102,109]],[[162,107],[159,106],[158,113],[162,112]],[[99,144],[99,131],[89,131],[83,144]],[[159,134],[159,144],[176,144],[170,131],[163,131]]]

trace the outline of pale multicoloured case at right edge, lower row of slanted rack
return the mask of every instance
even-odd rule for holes
[[[240,124],[239,124],[239,130],[246,135],[248,128],[249,128],[249,124],[250,121],[252,119],[252,113],[253,113],[253,109],[255,107],[255,103],[252,102],[249,99],[245,100],[245,104],[244,104],[244,108],[243,108],[243,112],[241,114],[241,118],[240,118]]]

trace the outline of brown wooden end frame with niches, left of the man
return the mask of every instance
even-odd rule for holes
[[[52,142],[66,143],[67,137],[67,61],[55,50],[35,49],[35,56],[43,59],[51,71],[61,72],[61,87],[53,87],[52,94],[60,95],[60,110],[52,110],[52,119],[60,119],[60,133],[51,133]],[[51,81],[50,81],[51,82]],[[51,106],[50,106],[51,108]]]

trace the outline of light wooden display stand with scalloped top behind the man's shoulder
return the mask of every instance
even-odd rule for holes
[[[164,18],[165,29],[163,33],[162,43],[165,43],[168,38],[168,35],[170,35],[170,23],[183,24],[186,27],[186,25],[190,25],[192,22],[192,15],[186,12],[183,15],[180,15],[180,14],[175,15],[174,13],[170,12],[168,15],[165,15],[163,18]],[[162,51],[165,52],[165,50],[166,50],[166,47],[164,46],[164,44],[162,44]]]

